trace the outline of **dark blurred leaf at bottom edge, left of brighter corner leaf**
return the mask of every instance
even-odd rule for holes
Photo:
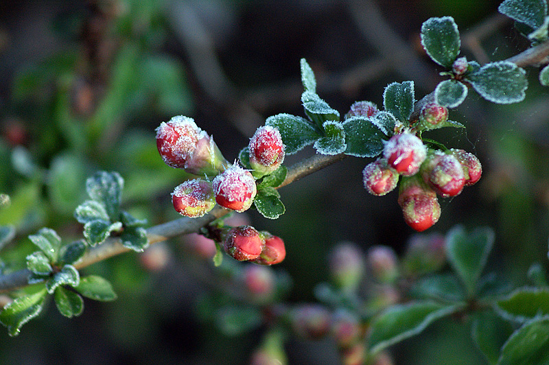
[[[511,323],[496,316],[493,311],[476,314],[471,327],[471,337],[491,365],[498,362],[500,350],[511,333]]]

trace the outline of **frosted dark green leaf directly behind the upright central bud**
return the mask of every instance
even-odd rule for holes
[[[303,150],[321,137],[316,126],[307,119],[290,114],[273,115],[267,118],[265,124],[279,128],[282,141],[286,145],[286,154]]]

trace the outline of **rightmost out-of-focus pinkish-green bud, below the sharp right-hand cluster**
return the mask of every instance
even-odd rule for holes
[[[402,268],[408,276],[430,274],[446,262],[445,237],[440,233],[415,234],[406,242]]]

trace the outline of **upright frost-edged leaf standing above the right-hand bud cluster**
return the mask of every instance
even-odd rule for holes
[[[388,84],[383,93],[383,106],[399,121],[406,122],[414,111],[414,82]]]

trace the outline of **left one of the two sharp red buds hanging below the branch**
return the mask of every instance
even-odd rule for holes
[[[237,261],[255,260],[265,248],[265,240],[252,226],[237,226],[226,233],[223,248]]]

